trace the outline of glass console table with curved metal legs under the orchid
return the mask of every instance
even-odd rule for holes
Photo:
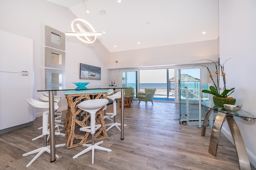
[[[233,137],[233,140],[235,143],[235,147],[236,147],[237,154],[238,154],[238,160],[239,160],[239,164],[240,164],[240,169],[241,170],[251,169],[248,154],[246,152],[246,147],[244,145],[244,141],[242,139],[240,130],[238,129],[236,121],[234,120],[234,116],[244,119],[245,121],[250,121],[250,122],[255,122],[256,116],[251,115],[250,113],[248,113],[242,109],[240,109],[239,111],[227,111],[224,109],[224,107],[214,106],[214,104],[212,102],[203,101],[202,105],[208,107],[209,110],[206,113],[206,116],[204,117],[201,136],[205,135],[207,121],[208,121],[212,111],[214,111],[214,110],[218,111],[218,114],[214,121],[214,125],[212,127],[212,133],[211,133],[211,137],[210,137],[210,144],[209,144],[208,152],[210,154],[216,156],[217,149],[218,149],[218,140],[220,137],[220,130],[221,130],[221,127],[222,127],[224,121],[226,120],[228,123],[228,126],[230,127],[230,131],[232,133],[232,137]]]

